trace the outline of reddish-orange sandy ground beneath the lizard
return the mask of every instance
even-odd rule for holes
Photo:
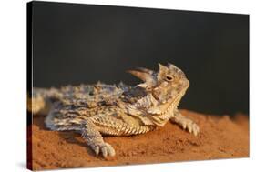
[[[32,126],[33,169],[249,157],[247,116],[230,119],[229,116],[209,116],[188,110],[181,112],[199,124],[198,137],[171,123],[144,135],[105,137],[117,154],[107,159],[96,157],[79,134],[49,131],[44,126],[44,116],[35,116]]]

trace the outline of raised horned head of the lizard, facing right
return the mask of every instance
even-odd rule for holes
[[[157,106],[162,112],[169,106],[178,106],[181,97],[189,87],[189,80],[185,74],[172,64],[168,66],[159,64],[157,72],[141,67],[128,72],[144,81],[138,86],[145,88],[148,94],[157,100]]]

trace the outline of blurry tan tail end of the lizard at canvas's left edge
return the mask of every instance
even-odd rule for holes
[[[46,116],[54,100],[60,97],[56,88],[33,88],[32,95],[27,95],[27,110],[33,115]]]

